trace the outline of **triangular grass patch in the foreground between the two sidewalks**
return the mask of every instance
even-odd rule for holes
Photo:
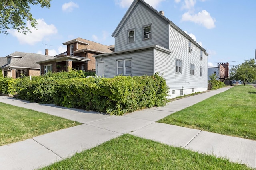
[[[246,170],[228,159],[122,135],[41,170]]]

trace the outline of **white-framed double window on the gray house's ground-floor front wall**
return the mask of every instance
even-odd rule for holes
[[[116,74],[131,75],[132,74],[132,59],[124,59],[116,61]]]

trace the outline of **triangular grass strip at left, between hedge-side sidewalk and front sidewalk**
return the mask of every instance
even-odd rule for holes
[[[0,102],[0,146],[76,125],[80,123]]]

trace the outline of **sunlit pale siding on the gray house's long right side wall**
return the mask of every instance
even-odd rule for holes
[[[203,53],[203,60],[200,60],[201,49],[192,42],[192,52],[188,52],[189,40],[170,26],[170,50],[172,62],[171,82],[168,84],[170,90],[207,88],[207,56]],[[182,60],[182,74],[175,72],[175,59]],[[195,65],[195,74],[190,75],[190,64]],[[203,76],[200,77],[200,67],[203,68]]]

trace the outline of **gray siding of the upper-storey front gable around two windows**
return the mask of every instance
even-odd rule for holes
[[[142,27],[152,25],[152,39],[142,40]],[[135,29],[135,42],[127,43],[127,31]],[[160,45],[168,49],[168,23],[159,16],[150,12],[146,6],[139,3],[132,11],[126,23],[115,37],[115,51],[144,47],[147,45]]]

